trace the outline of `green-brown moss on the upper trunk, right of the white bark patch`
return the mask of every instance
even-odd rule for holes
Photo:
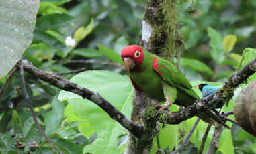
[[[176,8],[177,0],[148,0],[144,21],[152,28],[148,50],[177,66],[183,51],[183,38],[178,31]]]

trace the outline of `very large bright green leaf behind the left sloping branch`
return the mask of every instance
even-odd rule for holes
[[[99,92],[101,96],[110,101],[118,110],[130,117],[133,88],[127,76],[104,70],[86,71],[73,76],[71,82]],[[99,106],[81,98],[81,96],[61,91],[58,98],[60,100],[67,100],[74,109],[75,114],[79,118],[89,121],[95,133],[97,133],[97,139],[91,145],[87,145],[84,148],[84,153],[120,153],[117,147],[117,138],[118,135],[126,133],[126,129],[112,120]],[[67,115],[68,113],[65,112],[65,114]],[[76,119],[74,115],[72,117]]]

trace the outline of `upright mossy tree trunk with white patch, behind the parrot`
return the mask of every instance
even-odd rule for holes
[[[183,50],[183,39],[178,33],[176,7],[177,0],[146,1],[140,45],[177,66]],[[155,101],[147,98],[143,92],[135,92],[132,121],[144,125],[146,133],[140,139],[129,135],[126,154],[150,153],[159,128],[156,119],[144,116],[153,103]]]

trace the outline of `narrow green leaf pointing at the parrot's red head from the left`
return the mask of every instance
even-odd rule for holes
[[[118,53],[116,53],[114,50],[112,50],[106,46],[103,46],[101,44],[98,44],[97,47],[99,48],[99,50],[101,50],[101,52],[103,52],[103,54],[105,54],[105,56],[110,58],[110,60],[112,60],[113,62],[124,64],[121,56]]]

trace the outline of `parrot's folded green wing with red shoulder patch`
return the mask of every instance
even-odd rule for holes
[[[192,90],[192,86],[185,76],[183,76],[183,74],[181,74],[181,72],[177,70],[177,68],[171,62],[155,57],[153,60],[153,70],[155,70],[161,76],[161,78],[163,78],[163,80],[165,80],[171,86],[175,86],[193,98],[199,99],[198,94]]]

